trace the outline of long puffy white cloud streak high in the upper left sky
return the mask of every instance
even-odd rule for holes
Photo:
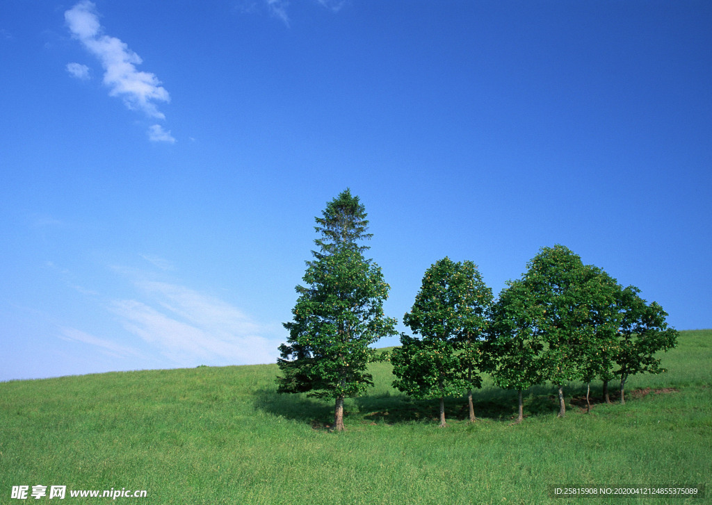
[[[64,18],[73,36],[103,66],[104,84],[109,95],[121,97],[127,107],[140,110],[150,117],[164,119],[156,102],[169,102],[170,96],[158,78],[148,72],[136,70],[142,60],[118,38],[104,35],[95,5],[83,0],[64,13]]]

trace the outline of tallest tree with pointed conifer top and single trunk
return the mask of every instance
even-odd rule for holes
[[[341,431],[344,399],[372,386],[368,363],[375,361],[370,346],[382,336],[394,335],[395,319],[387,318],[383,302],[389,285],[380,268],[365,260],[367,249],[357,240],[365,234],[365,209],[349,190],[328,203],[323,218],[316,218],[315,240],[320,251],[307,262],[300,294],[292,309],[287,344],[279,347],[277,378],[280,393],[307,393],[334,398],[334,427]]]

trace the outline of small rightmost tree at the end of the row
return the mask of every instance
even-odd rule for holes
[[[619,308],[622,323],[617,333],[617,353],[615,362],[619,369],[614,373],[620,377],[621,403],[625,404],[625,383],[636,373],[661,373],[659,351],[668,351],[677,344],[677,331],[670,328],[665,318],[667,312],[652,302],[647,304],[639,297],[640,289],[629,286],[619,294]]]

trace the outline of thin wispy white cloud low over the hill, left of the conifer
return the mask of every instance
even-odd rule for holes
[[[58,324],[60,338],[94,346],[96,350],[123,359],[122,366],[140,368],[147,362],[162,366],[224,366],[273,363],[284,340],[281,324],[265,324],[213,294],[167,280],[174,267],[157,255],[140,255],[159,270],[110,267],[125,282],[111,280],[120,294],[89,291],[66,268],[47,262],[46,268],[68,287],[85,294],[90,302],[110,314],[110,336],[85,332],[81,324]],[[104,291],[104,290],[101,290]],[[138,337],[140,340],[137,340]],[[137,351],[140,350],[139,351]],[[170,363],[166,363],[165,360]]]

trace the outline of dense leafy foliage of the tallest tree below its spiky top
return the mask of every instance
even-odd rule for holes
[[[381,270],[344,248],[310,262],[303,280],[310,288],[302,290],[293,321],[284,324],[290,345],[280,349],[280,390],[323,398],[360,395],[371,384],[370,345],[395,333],[396,321],[383,314],[389,287]]]

